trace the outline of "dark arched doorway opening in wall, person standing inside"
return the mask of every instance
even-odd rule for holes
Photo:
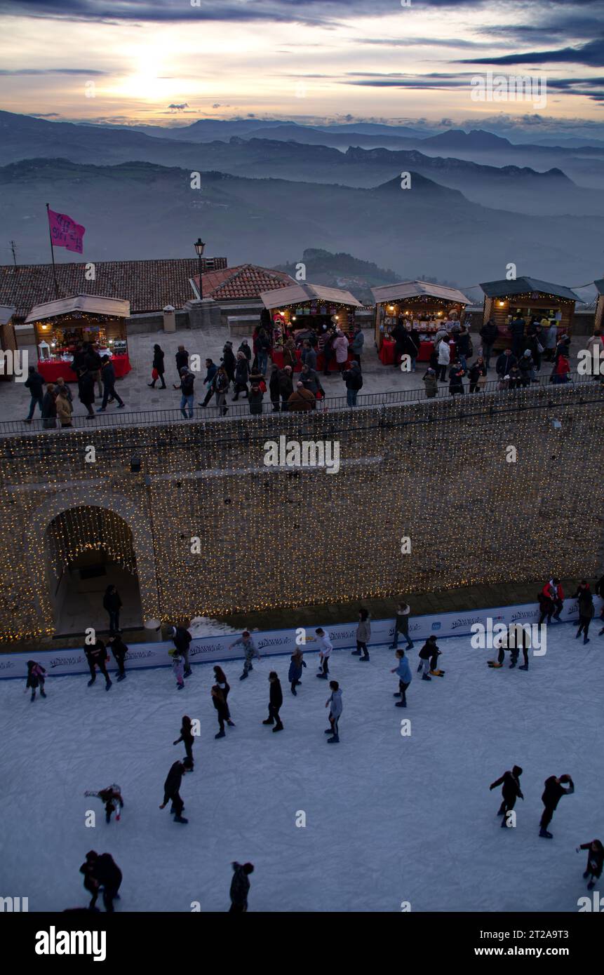
[[[108,630],[102,597],[117,587],[122,629],[141,626],[141,590],[131,527],[117,512],[97,505],[61,511],[45,532],[49,593],[55,635]]]

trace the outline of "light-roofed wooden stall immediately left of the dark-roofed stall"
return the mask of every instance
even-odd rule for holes
[[[429,281],[401,281],[372,288],[376,299],[376,345],[384,365],[394,362],[394,341],[390,332],[398,323],[420,335],[419,362],[427,362],[434,348],[434,334],[443,323],[451,330],[463,322],[469,299],[456,288]]]

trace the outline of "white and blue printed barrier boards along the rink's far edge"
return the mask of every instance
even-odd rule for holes
[[[594,598],[595,614],[592,626],[597,625],[599,612],[602,608],[600,597]],[[504,623],[538,623],[540,608],[538,603],[525,603],[510,606],[495,606],[484,609],[467,610],[464,612],[430,613],[424,616],[411,616],[409,622],[409,636],[418,643],[424,641],[429,636],[450,639],[452,637],[469,637],[470,628],[475,623],[482,623],[486,627],[487,619],[492,620],[492,625]],[[563,623],[577,622],[579,619],[579,606],[576,600],[565,602],[560,614]],[[329,633],[330,640],[334,645],[334,650],[346,650],[356,647],[356,628],[357,623],[342,623],[330,626],[325,624],[324,629]],[[558,626],[559,624],[551,624]],[[316,627],[305,627],[308,637],[314,635]],[[380,647],[391,643],[394,633],[393,619],[372,620],[370,647]],[[237,640],[240,634],[224,634],[214,637],[194,637],[189,647],[189,662],[199,663],[225,663],[231,660],[243,659],[241,647],[237,646],[233,650],[228,649],[229,643]],[[252,632],[254,643],[262,656],[291,654],[296,643],[296,629],[288,630],[263,630]],[[399,639],[399,645],[405,647],[404,637]],[[139,668],[171,667],[172,661],[168,656],[168,650],[173,648],[173,643],[134,643],[126,657],[128,670]],[[308,642],[302,645],[304,653],[317,653],[316,643]],[[196,659],[200,658],[200,659]],[[22,680],[27,677],[27,660],[35,659],[46,667],[47,677],[62,677],[75,674],[89,674],[88,661],[84,650],[78,649],[51,649],[30,651],[28,653],[15,652],[10,650],[0,654],[0,680]],[[111,657],[107,663],[109,673],[117,671],[117,665]]]

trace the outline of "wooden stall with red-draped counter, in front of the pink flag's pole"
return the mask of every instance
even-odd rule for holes
[[[60,376],[65,382],[76,382],[70,367],[73,353],[90,343],[101,356],[111,358],[118,378],[126,375],[132,369],[126,335],[129,317],[130,301],[100,294],[75,294],[35,305],[25,324],[35,331],[38,371],[47,382]]]

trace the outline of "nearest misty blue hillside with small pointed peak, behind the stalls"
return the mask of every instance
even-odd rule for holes
[[[86,227],[86,261],[180,257],[202,236],[231,265],[296,264],[308,248],[353,251],[398,280],[427,274],[462,289],[502,277],[510,260],[519,273],[562,284],[601,276],[600,217],[526,221],[411,176],[403,190],[398,178],[357,188],[202,171],[194,190],[179,167],[27,159],[0,168],[2,229],[24,263],[48,261],[48,201]]]

